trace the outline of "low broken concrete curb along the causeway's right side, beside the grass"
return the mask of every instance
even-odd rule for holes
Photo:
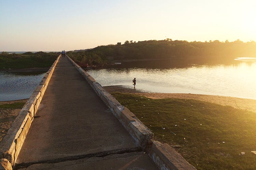
[[[68,57],[68,56],[67,56]],[[143,151],[153,160],[159,169],[196,169],[167,143],[153,141],[154,134],[128,108],[121,105],[93,77],[77,65],[70,57],[70,62],[83,75],[102,101],[131,134]]]

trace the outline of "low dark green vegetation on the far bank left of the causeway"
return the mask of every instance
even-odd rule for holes
[[[57,53],[26,52],[23,54],[0,54],[0,69],[23,69],[34,67],[50,67],[56,60]]]

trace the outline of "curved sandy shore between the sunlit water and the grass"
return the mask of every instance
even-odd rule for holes
[[[195,99],[205,102],[212,102],[221,105],[228,105],[238,109],[246,109],[248,111],[256,112],[256,100],[242,99],[226,96],[213,95],[197,95],[197,94],[174,94],[174,93],[152,93],[134,89],[131,86],[104,86],[104,88],[111,92],[135,93],[137,95],[145,96],[151,99],[163,98],[178,98],[178,99]]]

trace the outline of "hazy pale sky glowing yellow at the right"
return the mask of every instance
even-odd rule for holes
[[[0,51],[125,40],[256,41],[255,0],[0,0]]]

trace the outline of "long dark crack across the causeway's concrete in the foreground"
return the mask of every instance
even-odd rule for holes
[[[29,166],[34,164],[51,164],[51,163],[65,162],[68,160],[78,160],[78,159],[90,158],[90,157],[105,157],[112,154],[124,154],[124,153],[141,152],[141,151],[142,149],[140,147],[135,147],[135,148],[116,149],[111,151],[98,152],[98,153],[85,154],[85,155],[74,155],[74,156],[57,158],[57,159],[41,160],[37,162],[20,163],[20,164],[15,164],[13,167],[13,170],[28,168]]]

